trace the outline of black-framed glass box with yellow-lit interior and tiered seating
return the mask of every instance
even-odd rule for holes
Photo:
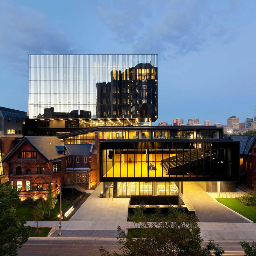
[[[239,143],[101,141],[101,181],[239,181]]]

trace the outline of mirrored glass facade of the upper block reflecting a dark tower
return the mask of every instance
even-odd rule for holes
[[[29,117],[154,121],[157,67],[157,54],[29,55]]]

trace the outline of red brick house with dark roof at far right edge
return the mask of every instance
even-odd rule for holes
[[[256,136],[229,136],[240,141],[240,181],[256,188]]]

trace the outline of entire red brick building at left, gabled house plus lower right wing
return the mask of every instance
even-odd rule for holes
[[[36,186],[38,197],[43,197],[47,185],[55,181],[82,185],[90,189],[98,184],[98,151],[93,144],[64,145],[57,137],[24,137],[2,159],[9,183],[21,189],[21,200],[31,197]],[[55,194],[59,193],[54,186]]]

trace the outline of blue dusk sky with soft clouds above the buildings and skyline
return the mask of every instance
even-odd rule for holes
[[[28,111],[28,54],[158,54],[157,122],[245,122],[255,13],[255,0],[0,0],[0,106]]]

